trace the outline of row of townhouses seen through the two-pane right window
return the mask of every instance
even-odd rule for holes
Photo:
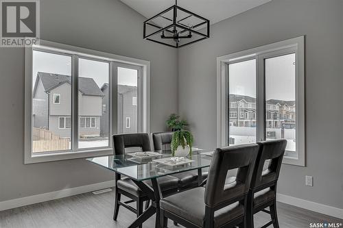
[[[238,94],[229,95],[229,125],[256,127],[256,99]],[[296,121],[295,101],[270,99],[265,101],[265,121],[268,128],[294,129]]]

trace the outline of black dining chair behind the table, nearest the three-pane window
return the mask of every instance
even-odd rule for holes
[[[151,151],[149,134],[117,134],[113,136],[114,155],[125,155],[126,149],[132,147],[139,147],[141,151]],[[178,191],[178,181],[178,178],[171,176],[158,178],[158,183],[165,195]],[[151,181],[146,181],[146,183],[152,186]],[[130,198],[130,200],[122,202],[121,194]],[[121,177],[118,173],[115,174],[115,211],[113,220],[117,220],[119,206],[126,207],[128,210],[136,213],[137,217],[140,216],[143,213],[143,202],[147,201],[147,207],[148,200],[148,197],[131,179]],[[137,204],[136,209],[128,205],[133,202]]]

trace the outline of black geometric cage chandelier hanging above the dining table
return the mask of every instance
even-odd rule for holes
[[[169,47],[184,47],[210,37],[210,21],[175,5],[143,23],[145,40]]]

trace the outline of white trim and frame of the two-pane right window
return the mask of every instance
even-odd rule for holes
[[[257,55],[277,53],[284,49],[296,50],[296,151],[298,158],[284,157],[283,163],[293,164],[296,166],[305,166],[305,36],[299,36],[289,40],[275,42],[270,45],[264,45],[246,51],[240,51],[229,55],[224,55],[217,58],[217,147],[225,147],[228,145],[228,88],[226,86],[228,62],[240,62],[243,60],[257,59],[257,75],[263,75],[263,61],[257,58]],[[257,77],[257,92],[259,94],[259,101],[257,103],[264,103],[264,96],[261,96],[261,91],[264,92],[264,77]],[[257,107],[258,119],[257,125],[265,125],[264,110]],[[264,127],[260,127],[257,131],[257,138],[264,140]],[[292,151],[291,151],[292,152]]]

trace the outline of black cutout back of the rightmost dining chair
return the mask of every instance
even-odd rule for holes
[[[279,179],[281,162],[287,145],[287,140],[268,140],[257,142],[261,147],[257,155],[255,170],[250,188],[255,189]],[[270,160],[268,168],[263,170],[266,160]],[[267,186],[268,187],[268,186]]]

